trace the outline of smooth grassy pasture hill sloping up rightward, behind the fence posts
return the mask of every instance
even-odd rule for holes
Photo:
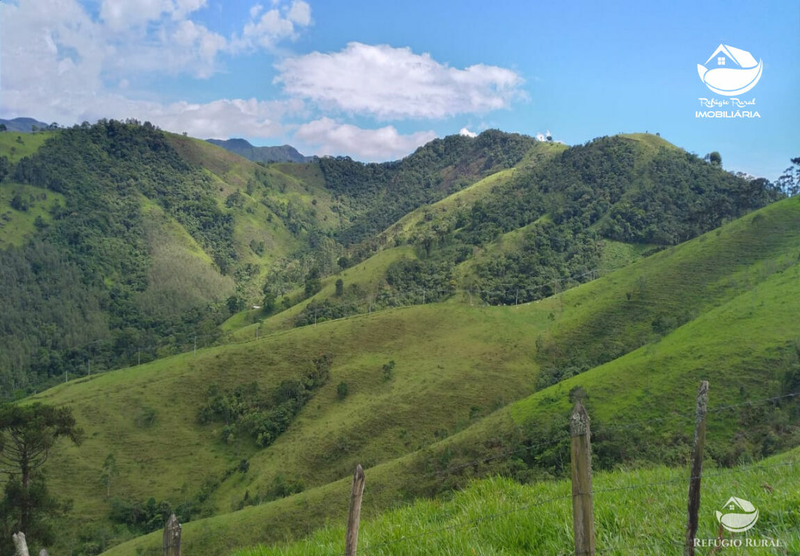
[[[558,476],[564,446],[553,441],[575,387],[598,423],[599,469],[682,464],[690,420],[678,420],[678,432],[676,423],[654,424],[649,443],[614,435],[613,427],[604,435],[604,424],[670,416],[674,400],[690,400],[701,378],[711,380],[714,407],[791,387],[798,224],[800,201],[791,199],[536,303],[475,307],[454,299],[378,312],[55,387],[37,398],[75,407],[87,440],[54,453],[53,488],[74,498],[76,522],[110,528],[98,470],[113,453],[122,471],[114,495],[183,505],[193,519],[218,514],[186,523],[186,546],[225,554],[339,518],[344,506],[334,501],[345,498],[348,479],[330,482],[347,478],[355,463],[370,468],[376,487],[370,512],[474,476]],[[576,361],[575,353],[586,355]],[[330,355],[330,379],[269,447],[258,449],[246,428],[230,439],[224,423],[198,424],[210,385],[230,391],[255,381],[272,391],[313,369],[320,354]],[[791,447],[793,407],[721,412],[708,454],[730,465]],[[549,449],[520,451],[538,440]],[[414,479],[421,472],[422,482]],[[86,488],[92,484],[96,490]],[[110,554],[157,546],[156,536]]]

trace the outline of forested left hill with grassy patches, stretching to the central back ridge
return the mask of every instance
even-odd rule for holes
[[[531,143],[491,132],[434,141],[397,163],[264,167],[135,121],[2,133],[0,292],[13,300],[2,395],[176,353],[197,337],[214,344],[218,324],[261,304],[264,284],[282,296],[312,269],[329,275],[354,230],[512,165]],[[70,294],[56,300],[55,289]]]

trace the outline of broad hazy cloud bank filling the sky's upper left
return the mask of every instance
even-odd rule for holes
[[[62,124],[135,117],[200,137],[285,133],[282,119],[305,113],[301,100],[163,103],[142,91],[138,96],[150,100],[130,97],[137,94],[138,75],[163,72],[207,77],[217,70],[218,54],[230,51],[230,40],[186,18],[206,3],[102,0],[94,17],[77,0],[6,4],[3,115],[30,115]],[[305,2],[278,2],[274,10],[281,10],[282,18],[296,30],[295,20],[306,21],[302,6],[297,7],[300,4]],[[292,10],[298,11],[290,15]],[[258,10],[254,14],[258,16]]]

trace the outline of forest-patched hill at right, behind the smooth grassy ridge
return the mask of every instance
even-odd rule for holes
[[[290,311],[266,320],[264,328],[453,295],[487,304],[526,303],[716,228],[780,196],[767,181],[735,177],[647,134],[602,137],[570,149],[534,143],[513,168],[422,205],[373,240],[350,248],[339,266],[358,263],[372,269],[369,281],[355,279],[358,289],[349,289],[354,280],[352,272],[346,276],[349,271],[330,276],[328,288],[315,295],[315,289],[287,292],[266,284],[280,304],[271,312],[237,317],[226,329],[264,320],[289,306]],[[349,233],[347,228],[344,232]],[[386,250],[402,252],[402,258],[374,257]],[[334,295],[337,280],[344,289]],[[254,336],[253,328],[242,335]]]

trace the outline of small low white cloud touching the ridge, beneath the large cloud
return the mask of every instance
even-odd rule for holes
[[[322,117],[301,125],[294,137],[314,148],[314,153],[347,154],[358,160],[387,161],[410,154],[420,145],[436,138],[434,131],[418,131],[403,135],[394,125],[378,129],[362,129]]]

